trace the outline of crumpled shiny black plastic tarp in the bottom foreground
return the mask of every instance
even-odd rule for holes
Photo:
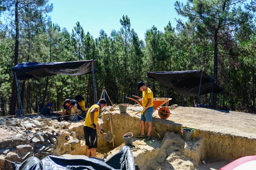
[[[13,163],[15,170],[59,170],[59,169],[90,169],[90,170],[135,170],[135,161],[129,146],[123,146],[120,151],[106,161],[96,158],[68,159],[48,156],[41,161],[30,157],[23,163]]]

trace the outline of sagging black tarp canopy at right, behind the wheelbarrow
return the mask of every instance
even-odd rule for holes
[[[180,95],[184,95],[187,97],[196,97],[199,92],[201,73],[202,84],[200,89],[200,95],[210,93],[211,86],[213,86],[213,93],[221,92],[221,87],[219,87],[217,84],[214,84],[215,80],[207,75],[204,70],[148,72],[148,77],[159,81],[167,87],[171,87]]]

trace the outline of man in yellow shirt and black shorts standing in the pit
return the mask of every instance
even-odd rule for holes
[[[84,123],[85,145],[87,157],[96,156],[96,148],[98,148],[97,130],[98,127],[102,133],[105,131],[98,124],[99,110],[106,105],[105,99],[99,100],[97,104],[93,104],[87,112]]]

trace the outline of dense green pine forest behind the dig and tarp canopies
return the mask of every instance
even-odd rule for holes
[[[24,62],[97,60],[98,98],[105,87],[113,103],[132,103],[126,96],[141,96],[138,81],[147,82],[147,72],[206,70],[222,87],[213,95],[213,108],[255,113],[255,1],[189,0],[175,3],[176,27],[166,21],[163,32],[154,25],[144,41],[130,26],[129,16],[120,16],[120,29],[110,35],[100,30],[93,38],[77,21],[71,33],[53,24],[48,0],[1,0],[0,16],[0,115],[20,108],[15,78],[9,69]],[[40,109],[47,103],[61,110],[66,98],[80,94],[87,107],[93,104],[92,75],[41,78],[37,80]],[[35,80],[18,81],[25,113],[37,112]],[[182,96],[149,80],[154,97],[170,97],[181,104]],[[196,98],[185,97],[184,106]],[[207,103],[209,94],[200,103]],[[108,103],[110,104],[110,103]]]

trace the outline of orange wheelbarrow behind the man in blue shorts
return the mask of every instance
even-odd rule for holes
[[[133,100],[136,103],[140,104],[140,106],[142,106],[142,98],[135,95],[132,95],[132,97],[136,97],[138,98],[138,100],[135,100],[134,98],[130,98],[130,97],[126,97],[126,98]],[[160,118],[166,119],[170,116],[171,112],[168,109],[168,104],[170,100],[172,100],[172,98],[153,98],[154,112],[155,110],[158,110],[158,115]],[[166,103],[166,106],[160,107],[165,103]]]

